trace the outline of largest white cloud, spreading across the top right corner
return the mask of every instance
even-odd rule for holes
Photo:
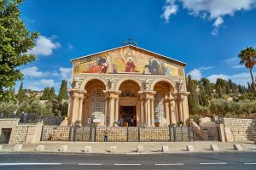
[[[177,4],[180,3],[184,9],[189,10],[189,14],[214,20],[212,35],[218,34],[218,27],[224,24],[224,16],[233,16],[237,11],[247,11],[256,7],[256,0],[169,0],[166,4],[167,2],[172,2],[169,4],[177,8]]]

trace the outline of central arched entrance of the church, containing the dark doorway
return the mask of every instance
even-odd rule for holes
[[[140,86],[133,80],[127,80],[120,84],[119,91],[119,122],[121,126],[136,127],[139,121]]]

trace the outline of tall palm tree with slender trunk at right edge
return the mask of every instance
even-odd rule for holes
[[[253,93],[256,94],[255,82],[253,77],[253,67],[256,65],[256,49],[249,47],[242,49],[238,57],[241,59],[240,65],[245,65],[246,68],[250,70],[251,78],[252,78],[252,88]]]

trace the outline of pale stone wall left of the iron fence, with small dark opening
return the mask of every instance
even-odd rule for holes
[[[19,119],[0,119],[0,134],[3,128],[11,128],[9,144],[40,141],[43,123],[19,124]]]

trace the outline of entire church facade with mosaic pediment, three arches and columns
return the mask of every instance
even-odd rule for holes
[[[189,119],[183,62],[131,44],[71,62],[69,124],[166,127]]]

